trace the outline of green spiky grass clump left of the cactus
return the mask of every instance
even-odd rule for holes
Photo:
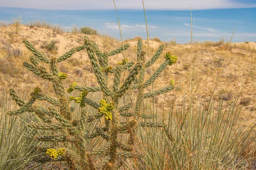
[[[26,126],[38,119],[31,114],[8,116],[6,111],[14,105],[3,93],[0,108],[0,170],[23,170],[37,154],[38,142],[34,140],[37,131]]]

